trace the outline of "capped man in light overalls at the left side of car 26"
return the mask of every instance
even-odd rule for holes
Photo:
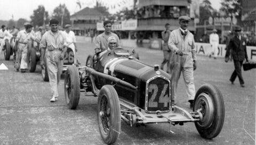
[[[20,69],[21,72],[26,72],[28,68],[28,45],[31,45],[33,40],[39,42],[32,32],[33,25],[26,22],[24,27],[25,30],[19,31],[15,40],[15,48],[18,48],[15,69],[16,71]]]

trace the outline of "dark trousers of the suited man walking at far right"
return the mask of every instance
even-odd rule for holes
[[[244,79],[243,79],[242,70],[241,70],[242,64],[243,64],[243,61],[235,61],[234,60],[235,70],[230,77],[231,82],[234,82],[236,79],[236,76],[238,76],[240,84],[244,84]]]

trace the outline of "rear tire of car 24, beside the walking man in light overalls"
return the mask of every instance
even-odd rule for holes
[[[69,109],[75,109],[80,98],[80,80],[77,68],[74,65],[68,66],[66,71],[65,83],[65,100]]]

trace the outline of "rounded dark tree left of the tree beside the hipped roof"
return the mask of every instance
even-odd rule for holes
[[[49,14],[45,11],[43,5],[38,5],[38,8],[34,10],[33,15],[30,16],[31,24],[38,26],[42,26],[44,24],[49,23]]]

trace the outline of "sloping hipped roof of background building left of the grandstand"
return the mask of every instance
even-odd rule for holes
[[[103,16],[96,8],[85,7],[81,11],[78,11],[70,16],[70,20],[97,20],[100,16]]]

